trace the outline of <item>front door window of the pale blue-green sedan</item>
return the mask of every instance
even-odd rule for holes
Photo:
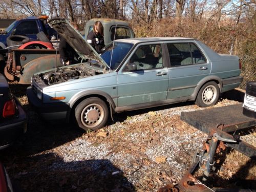
[[[161,45],[155,44],[140,46],[131,57],[130,62],[127,63],[126,69],[131,69],[130,66],[133,66],[133,70],[163,68]]]

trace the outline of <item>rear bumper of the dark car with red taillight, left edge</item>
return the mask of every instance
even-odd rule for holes
[[[16,100],[19,114],[0,123],[0,150],[6,148],[19,136],[27,132],[27,115],[22,105]]]

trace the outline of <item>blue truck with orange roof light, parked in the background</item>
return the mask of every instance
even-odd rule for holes
[[[44,32],[49,36],[56,35],[56,31],[50,28],[47,23],[48,16],[30,16],[25,19],[17,19],[6,30],[0,32],[0,49],[4,49],[8,45],[8,37],[14,36],[27,36],[28,40],[37,40],[37,34]],[[10,40],[9,40],[10,41]]]

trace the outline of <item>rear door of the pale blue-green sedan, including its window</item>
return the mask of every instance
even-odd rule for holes
[[[166,45],[170,62],[167,99],[190,96],[198,82],[210,73],[211,63],[195,41]]]

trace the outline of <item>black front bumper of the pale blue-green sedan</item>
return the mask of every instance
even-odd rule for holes
[[[33,92],[32,87],[27,88],[27,96],[29,104],[32,106],[33,110],[35,110],[43,119],[53,122],[69,121],[69,104],[65,102],[42,103],[42,101],[36,97],[36,94]]]

